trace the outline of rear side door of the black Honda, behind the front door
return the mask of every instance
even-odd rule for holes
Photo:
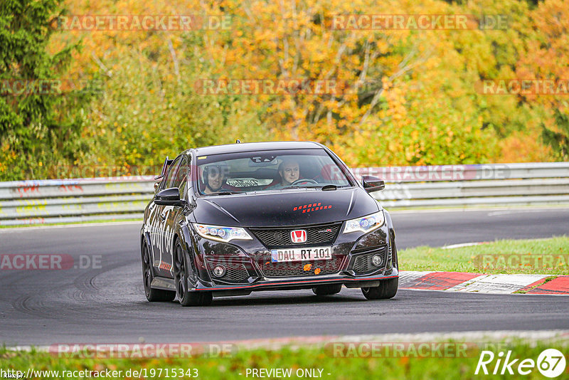
[[[172,164],[170,165],[170,168],[168,170],[168,172],[166,173],[166,176],[164,177],[164,179],[161,182],[161,186],[159,188],[159,191],[162,191],[164,189],[169,189],[172,186],[172,184],[174,184],[174,179],[176,176],[176,173],[180,167],[181,164],[181,160],[182,157],[178,157],[176,160],[174,160],[174,162],[172,162]],[[156,233],[154,234],[154,243],[153,243],[153,247],[154,247],[154,269],[156,271],[156,274],[159,276],[164,276],[164,277],[170,277],[170,273],[171,273],[171,268],[170,268],[170,261],[168,260],[169,258],[169,247],[166,244],[166,234],[169,234],[169,228],[166,224],[166,220],[169,216],[169,213],[171,211],[171,209],[174,208],[174,206],[161,206],[161,205],[155,205],[156,206],[156,211],[154,213],[155,215],[155,222],[154,222],[154,226],[156,227]]]

